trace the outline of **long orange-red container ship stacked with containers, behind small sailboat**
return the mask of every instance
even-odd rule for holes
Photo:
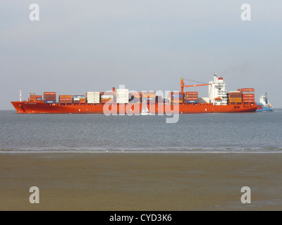
[[[198,91],[185,91],[184,88],[209,86],[209,96],[200,98]],[[169,91],[168,95],[159,91],[87,91],[83,95],[59,95],[44,92],[43,96],[30,93],[27,101],[12,101],[17,113],[76,113],[106,115],[168,115],[172,113],[249,113],[257,110],[255,89],[242,88],[226,91],[223,77],[214,74],[208,84],[185,85],[180,79],[181,91]]]

